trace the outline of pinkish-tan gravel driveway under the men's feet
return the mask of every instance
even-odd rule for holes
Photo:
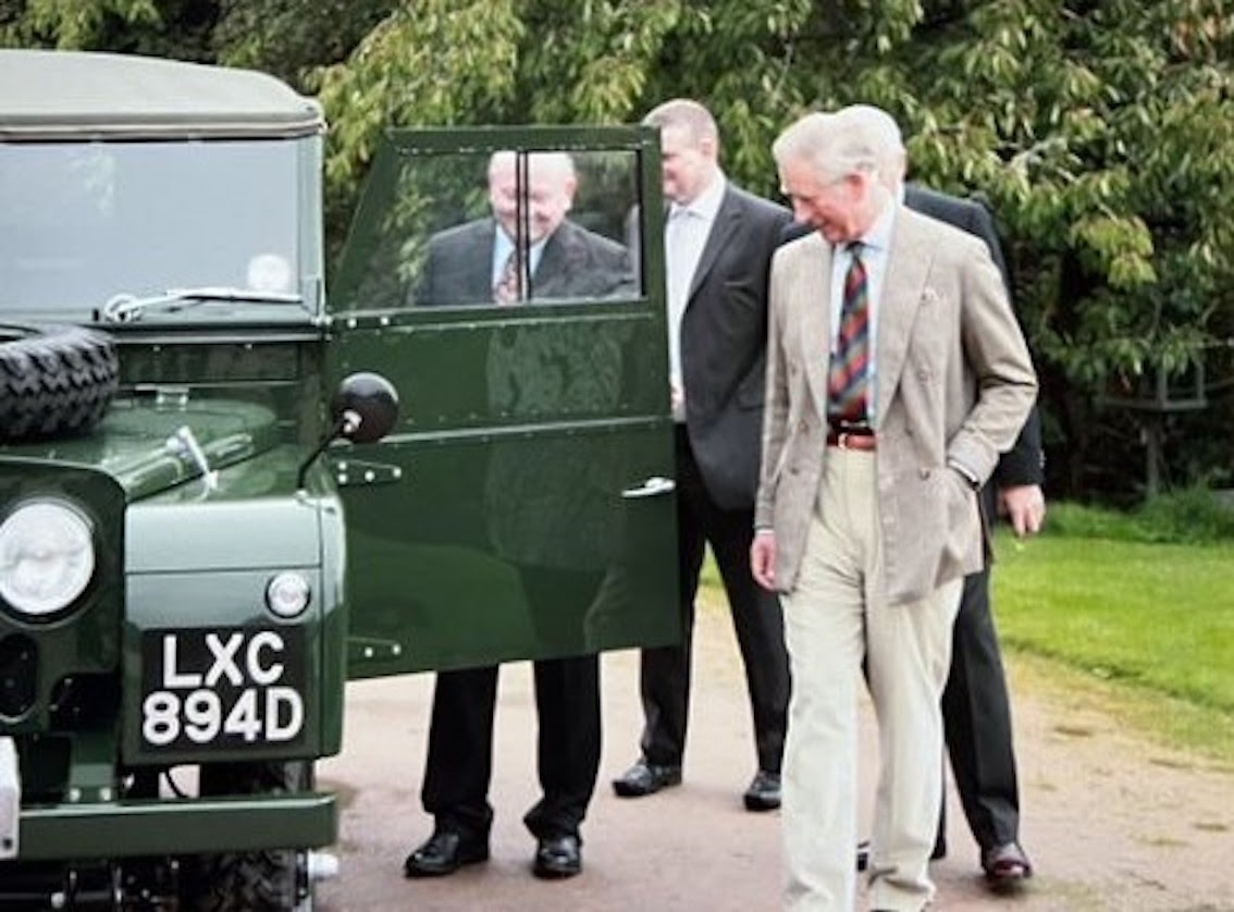
[[[537,796],[536,717],[526,663],[501,676],[492,859],[441,880],[408,881],[402,859],[431,831],[420,808],[432,676],[353,682],[346,752],[320,768],[342,803],[327,912],[756,912],[780,907],[779,815],[752,815],[740,792],[754,773],[740,661],[727,617],[700,611],[685,784],[622,800],[610,780],[638,754],[638,658],[603,660],[605,752],[584,826],[581,876],[531,875],[521,817]],[[1038,876],[996,898],[954,801],[950,855],[934,864],[935,908],[1016,912],[1234,912],[1234,771],[1150,745],[1059,687],[1017,689],[1023,843]],[[866,718],[866,755],[874,755]],[[870,803],[872,777],[864,784]]]

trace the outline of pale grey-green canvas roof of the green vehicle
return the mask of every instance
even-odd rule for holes
[[[0,141],[286,138],[320,105],[267,73],[153,57],[0,49]]]

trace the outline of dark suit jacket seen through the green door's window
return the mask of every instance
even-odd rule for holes
[[[497,223],[478,218],[433,234],[415,290],[417,305],[492,304]],[[611,297],[633,289],[629,254],[616,241],[566,220],[544,243],[528,297]]]

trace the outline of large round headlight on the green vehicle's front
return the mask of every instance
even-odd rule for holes
[[[0,523],[0,597],[30,617],[67,608],[94,576],[90,521],[63,501],[35,501]]]

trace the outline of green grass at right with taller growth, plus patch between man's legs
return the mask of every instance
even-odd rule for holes
[[[1199,542],[1199,543],[1196,543]],[[1234,538],[1186,497],[1134,513],[1051,505],[996,541],[995,616],[1022,686],[1099,705],[1234,768]],[[723,605],[708,560],[705,600]]]

